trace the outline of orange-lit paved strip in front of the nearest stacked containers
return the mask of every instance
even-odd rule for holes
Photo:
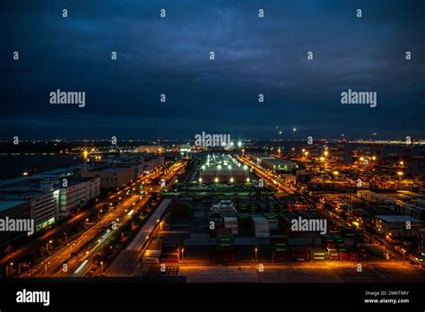
[[[350,262],[252,265],[180,265],[187,282],[424,282],[425,270],[399,262],[363,263],[361,272]]]

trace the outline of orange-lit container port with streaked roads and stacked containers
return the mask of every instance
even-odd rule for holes
[[[403,160],[392,173],[377,156],[347,163],[328,148],[316,157],[308,146],[185,151],[145,157],[156,163],[126,186],[3,256],[4,274],[189,283],[423,282],[425,195]],[[107,161],[96,169],[108,172],[104,168],[117,168],[117,160],[140,166],[131,153],[111,157],[114,165]],[[84,176],[90,169],[73,172]],[[58,237],[56,229],[64,227],[70,233]]]

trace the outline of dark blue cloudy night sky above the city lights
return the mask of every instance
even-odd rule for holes
[[[421,0],[2,0],[0,139],[424,139],[424,13]],[[85,107],[51,105],[56,89],[85,91]],[[377,91],[377,107],[341,104],[347,89]]]

